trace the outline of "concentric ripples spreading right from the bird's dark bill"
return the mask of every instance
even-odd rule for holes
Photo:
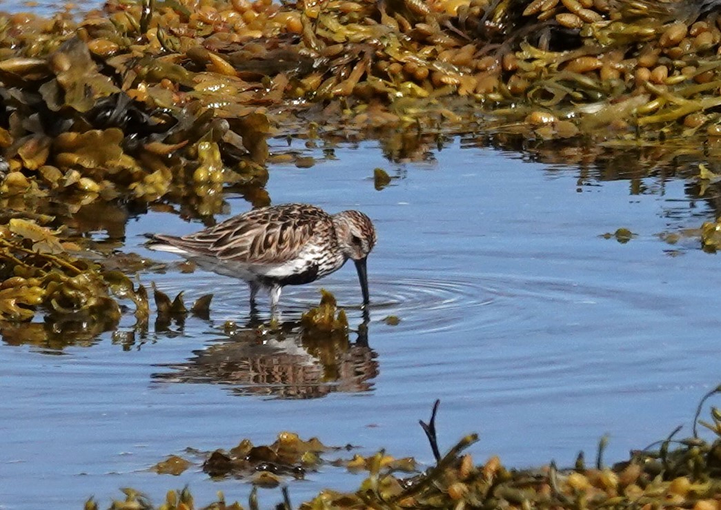
[[[508,274],[451,274],[440,278],[401,278],[374,282],[371,316],[398,316],[419,333],[508,330],[549,325],[549,316],[566,323],[585,314],[605,321],[623,303],[626,310],[676,309],[673,299],[653,292],[589,285],[571,280]],[[383,316],[383,317],[378,317]],[[553,321],[551,321],[553,323]]]

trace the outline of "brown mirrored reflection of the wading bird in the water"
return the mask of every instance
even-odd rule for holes
[[[379,373],[377,354],[368,346],[367,325],[358,328],[351,342],[348,334],[322,334],[286,321],[267,328],[251,320],[243,328],[180,364],[167,364],[170,372],[156,373],[165,383],[229,385],[235,395],[270,398],[320,398],[341,391],[373,390]]]

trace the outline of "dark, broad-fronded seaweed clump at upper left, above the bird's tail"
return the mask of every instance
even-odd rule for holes
[[[265,115],[248,107],[224,116],[200,99],[177,97],[151,71],[192,84],[182,68],[158,70],[132,53],[102,60],[87,30],[45,34],[43,50],[10,51],[2,47],[14,38],[0,38],[4,194],[32,192],[30,178],[53,198],[68,191],[86,202],[188,197],[198,214],[211,215],[223,184],[265,184]]]

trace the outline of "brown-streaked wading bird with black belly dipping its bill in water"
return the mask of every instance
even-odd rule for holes
[[[370,303],[366,258],[376,246],[376,229],[357,210],[329,214],[314,205],[290,203],[249,210],[186,236],[149,237],[149,249],[180,254],[201,269],[244,279],[252,309],[263,289],[275,313],[285,285],[314,282],[348,259],[358,271],[363,309]]]

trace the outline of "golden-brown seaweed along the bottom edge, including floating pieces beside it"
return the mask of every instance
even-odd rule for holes
[[[326,490],[301,509],[327,508],[640,508],[658,507],[717,509],[721,501],[721,411],[711,408],[711,421],[699,421],[704,401],[721,392],[721,386],[702,398],[694,419],[693,436],[674,439],[681,427],[668,438],[632,452],[629,460],[611,467],[603,465],[606,438],[601,439],[593,467],[585,465],[583,452],[575,467],[559,470],[554,462],[534,470],[509,470],[498,457],[491,457],[482,465],[474,465],[464,449],[479,439],[477,434],[464,437],[441,455],[435,429],[439,401],[433,406],[430,421],[420,421],[436,464],[427,470],[417,470],[412,459],[396,460],[381,450],[371,457],[355,455],[350,460],[333,460],[332,465],[348,470],[367,471],[355,493]],[[715,434],[712,442],[699,437],[697,424]],[[340,448],[332,449],[338,452]],[[211,476],[249,477],[254,483],[249,508],[258,508],[257,487],[276,487],[279,474],[286,478],[303,478],[307,469],[317,468],[325,452],[329,451],[317,439],[302,441],[296,434],[283,432],[270,445],[255,447],[244,439],[228,453],[216,450],[206,457],[203,470]],[[327,461],[325,461],[327,463]],[[173,457],[156,465],[159,473],[176,473],[187,468],[189,462]],[[180,465],[180,468],[177,466]],[[412,476],[399,478],[398,472]],[[137,491],[125,489],[125,501],[115,501],[112,509],[148,508],[149,499]],[[277,508],[290,510],[290,491],[283,489],[283,502]],[[89,500],[87,509],[97,509]],[[159,509],[193,509],[193,496],[185,488],[170,491]],[[226,504],[223,496],[206,509],[242,508],[238,503]]]

